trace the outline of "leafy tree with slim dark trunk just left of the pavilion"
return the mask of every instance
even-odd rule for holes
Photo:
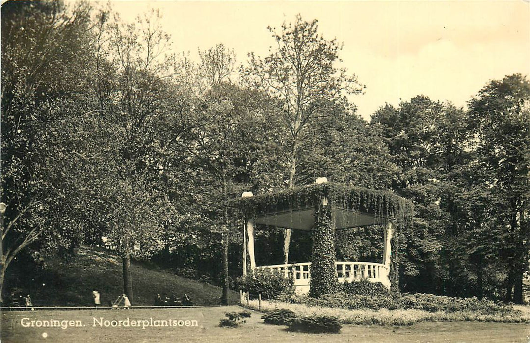
[[[208,215],[205,223],[221,233],[223,241],[223,303],[228,296],[228,246],[233,221],[229,218],[229,200],[241,196],[252,183],[257,152],[261,150],[266,106],[263,96],[233,84],[230,76],[235,57],[223,44],[199,51],[199,94],[196,132],[196,169],[202,170]]]

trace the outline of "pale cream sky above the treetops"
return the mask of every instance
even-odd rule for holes
[[[366,85],[351,100],[369,119],[423,94],[465,106],[492,79],[530,77],[530,0],[513,1],[112,1],[124,20],[158,8],[174,52],[233,48],[266,56],[279,28],[300,13],[319,21],[326,39],[343,42],[343,66]]]

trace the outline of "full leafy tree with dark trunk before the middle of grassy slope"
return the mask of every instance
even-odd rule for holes
[[[170,37],[158,13],[136,24],[100,16],[97,79],[99,110],[87,118],[86,146],[96,147],[80,180],[94,223],[115,244],[123,263],[124,293],[134,304],[130,258],[147,258],[163,248],[164,231],[178,218],[173,173],[180,172],[187,147],[191,105],[173,83]]]

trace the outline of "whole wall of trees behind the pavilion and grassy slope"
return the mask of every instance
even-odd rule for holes
[[[525,76],[490,80],[467,109],[418,95],[367,122],[354,103],[364,86],[336,66],[341,44],[316,20],[269,28],[269,55],[238,62],[223,44],[198,61],[174,53],[158,19],[126,23],[90,3],[3,4],[2,281],[21,254],[68,255],[105,237],[133,301],[131,257],[226,295],[242,270],[229,200],[325,176],[414,203],[402,291],[523,301]],[[338,254],[377,261],[378,237],[341,232]],[[301,232],[257,239],[267,264],[311,251]]]

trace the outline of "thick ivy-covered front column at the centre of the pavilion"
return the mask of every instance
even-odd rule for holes
[[[315,206],[315,223],[311,231],[313,254],[311,261],[310,296],[319,297],[337,289],[335,274],[335,224],[327,198]]]

